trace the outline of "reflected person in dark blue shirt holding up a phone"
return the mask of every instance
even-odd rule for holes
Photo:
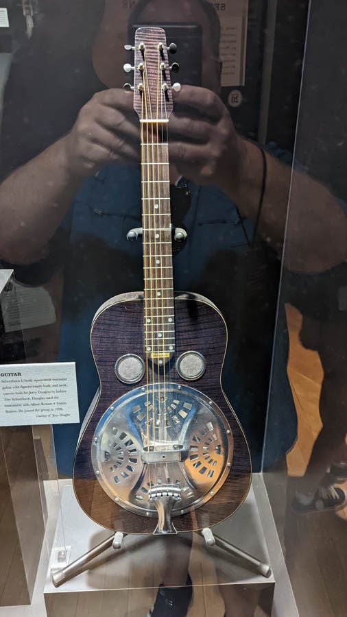
[[[0,186],[3,260],[42,264],[57,245],[56,261],[69,256],[60,359],[77,361],[82,413],[97,386],[88,341],[93,313],[109,295],[143,286],[140,247],[125,240],[141,220],[139,123],[132,96],[105,89],[121,65],[108,47],[108,38],[118,48],[124,43],[117,38],[117,20],[110,19],[117,2],[85,8],[85,29],[74,25],[82,19],[80,3],[67,8],[62,46],[58,9],[49,5],[45,27],[34,31],[32,44],[12,66]],[[187,245],[175,258],[176,287],[204,293],[226,313],[232,337],[226,387],[259,465],[278,276],[273,253],[280,255],[283,244],[291,169],[280,153],[263,153],[237,134],[219,99],[219,21],[210,3],[141,0],[131,21],[177,23],[178,15],[202,29],[202,87],[182,87],[169,123],[171,183],[178,184],[176,194],[181,189],[191,195],[184,215]],[[327,189],[296,176],[305,200],[300,226],[291,234],[300,252],[291,246],[289,265],[320,271],[346,258],[346,219]],[[59,246],[62,231],[69,242]],[[213,276],[206,278],[212,264]],[[241,365],[239,350],[246,357]],[[287,399],[291,407],[289,393]],[[77,431],[62,428],[58,459],[67,474],[76,439]]]

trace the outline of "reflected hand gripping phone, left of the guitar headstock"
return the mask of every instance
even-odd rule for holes
[[[66,163],[76,176],[86,177],[108,163],[139,162],[139,138],[132,97],[116,88],[103,90],[82,107],[64,138]]]

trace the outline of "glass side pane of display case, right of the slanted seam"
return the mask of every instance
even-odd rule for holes
[[[342,3],[312,3],[263,452],[304,616],[343,615],[347,601],[345,21]]]

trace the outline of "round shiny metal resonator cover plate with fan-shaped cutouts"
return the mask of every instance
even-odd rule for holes
[[[136,388],[99,420],[93,468],[106,494],[129,511],[157,516],[151,493],[177,487],[172,516],[222,487],[232,463],[230,426],[204,394],[174,383]]]

